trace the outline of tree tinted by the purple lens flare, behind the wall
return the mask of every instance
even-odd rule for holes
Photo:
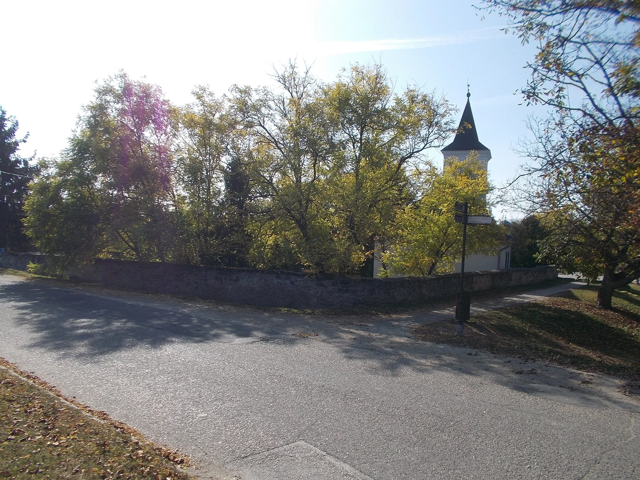
[[[96,89],[84,129],[113,196],[115,252],[166,260],[172,248],[175,111],[161,89],[121,73]]]

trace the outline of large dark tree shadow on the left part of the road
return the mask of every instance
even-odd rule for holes
[[[36,333],[31,346],[77,356],[100,356],[138,344],[243,342],[272,333],[161,306],[124,302],[40,282],[0,285],[0,301],[19,312],[17,322]]]

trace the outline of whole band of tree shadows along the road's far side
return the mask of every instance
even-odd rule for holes
[[[590,376],[584,384],[580,381],[586,377],[567,369],[418,342],[412,337],[410,319],[299,317],[239,308],[189,310],[169,301],[127,301],[10,276],[0,276],[0,302],[14,312],[7,321],[31,332],[29,348],[95,362],[122,349],[175,342],[273,342],[310,348],[314,342],[326,342],[345,359],[358,360],[378,375],[395,376],[408,369],[424,374],[425,380],[431,375],[464,374],[564,403],[638,410],[636,400],[614,393],[615,379],[596,381]],[[474,388],[471,380],[469,388]]]

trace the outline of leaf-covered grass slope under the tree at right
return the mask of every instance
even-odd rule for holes
[[[640,287],[616,291],[614,310],[596,308],[597,290],[589,285],[473,316],[464,337],[454,335],[454,319],[422,325],[415,334],[429,342],[640,380]]]

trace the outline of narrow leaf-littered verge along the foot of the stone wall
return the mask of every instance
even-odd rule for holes
[[[188,301],[189,303],[200,303],[202,305],[211,305],[217,308],[241,308],[260,310],[261,312],[270,313],[284,313],[299,316],[322,316],[322,317],[349,317],[349,316],[390,316],[394,314],[406,314],[415,310],[423,310],[424,308],[440,308],[451,306],[453,298],[435,298],[426,301],[419,302],[403,302],[394,303],[390,305],[356,305],[355,307],[346,308],[289,308],[289,307],[253,307],[251,305],[238,305],[235,303],[225,303],[222,301],[204,300],[202,298],[193,298],[189,296],[168,295],[168,294],[152,294],[143,291],[132,291],[131,289],[118,289],[117,287],[104,287],[98,284],[88,284],[76,282],[75,280],[68,280],[65,278],[53,278],[51,276],[36,275],[22,270],[13,270],[7,268],[0,268],[0,273],[8,275],[22,276],[30,280],[39,280],[55,287],[67,287],[77,288],[94,293],[109,295],[109,294],[125,294],[127,296],[136,296],[142,300],[177,300]],[[556,287],[557,285],[563,285],[568,282],[572,282],[571,278],[557,278],[556,280],[550,280],[548,282],[542,282],[540,284],[533,285],[520,285],[518,287],[509,287],[502,290],[487,290],[483,292],[474,292],[474,301],[490,300],[492,298],[501,298],[503,296],[516,295],[523,292],[529,292],[533,290],[546,289],[550,287]]]

